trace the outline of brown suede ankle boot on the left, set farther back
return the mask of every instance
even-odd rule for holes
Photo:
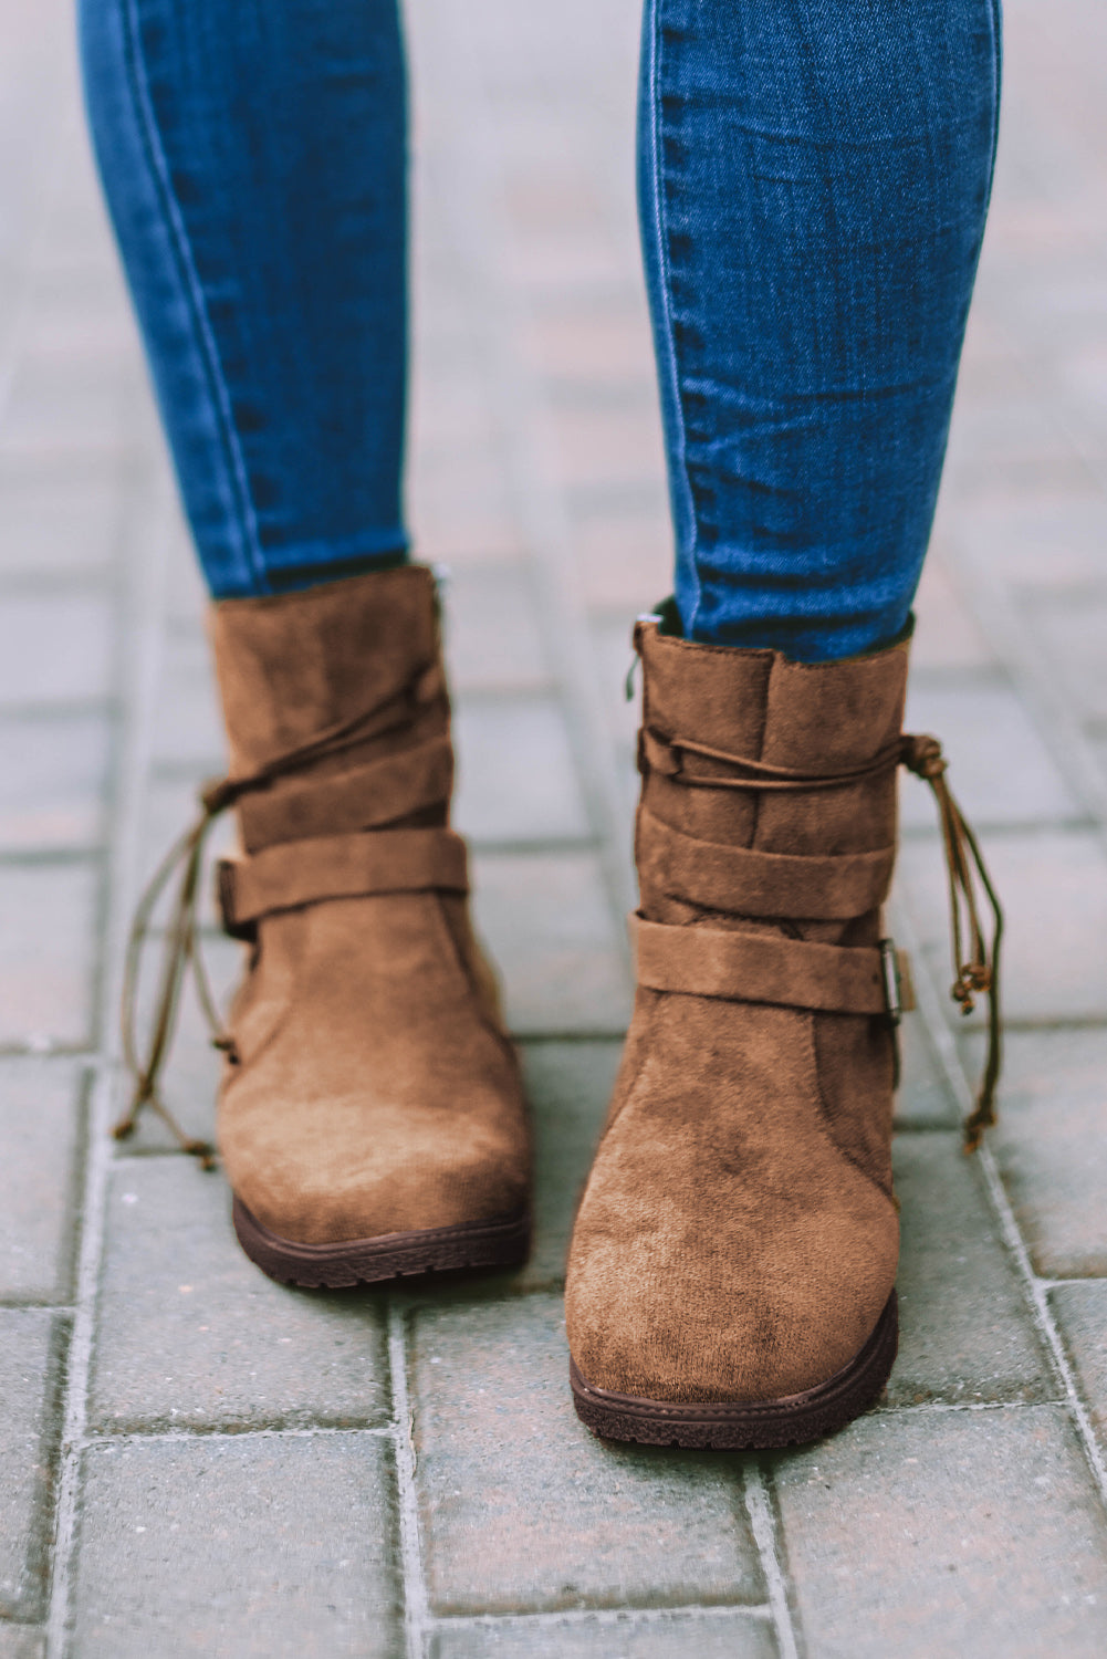
[[[309,1286],[523,1261],[528,1118],[448,828],[433,576],[221,601],[211,632],[231,775],[206,806],[237,810],[219,896],[251,946],[221,1037],[239,1241]]]

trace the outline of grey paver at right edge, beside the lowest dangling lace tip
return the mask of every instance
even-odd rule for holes
[[[981,1065],[983,1040],[968,1045]],[[989,1141],[1034,1271],[1107,1274],[1107,1027],[1009,1032]]]

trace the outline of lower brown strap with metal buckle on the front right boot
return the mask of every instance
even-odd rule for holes
[[[818,1014],[881,1014],[913,1007],[906,959],[880,947],[812,944],[775,934],[671,927],[631,916],[637,982],[725,1002],[772,1002]]]

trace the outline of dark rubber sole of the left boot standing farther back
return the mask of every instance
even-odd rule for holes
[[[297,1244],[257,1221],[236,1198],[234,1231],[239,1244],[262,1272],[282,1284],[314,1291],[345,1291],[355,1284],[380,1284],[408,1274],[463,1267],[516,1267],[531,1248],[529,1209],[491,1221],[466,1221],[455,1228],[420,1233],[387,1233],[377,1239],[342,1244]]]

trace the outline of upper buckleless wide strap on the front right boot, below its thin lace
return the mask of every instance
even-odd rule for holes
[[[734,916],[851,921],[883,904],[895,858],[895,846],[830,858],[724,846],[639,810],[639,878],[674,899]]]

